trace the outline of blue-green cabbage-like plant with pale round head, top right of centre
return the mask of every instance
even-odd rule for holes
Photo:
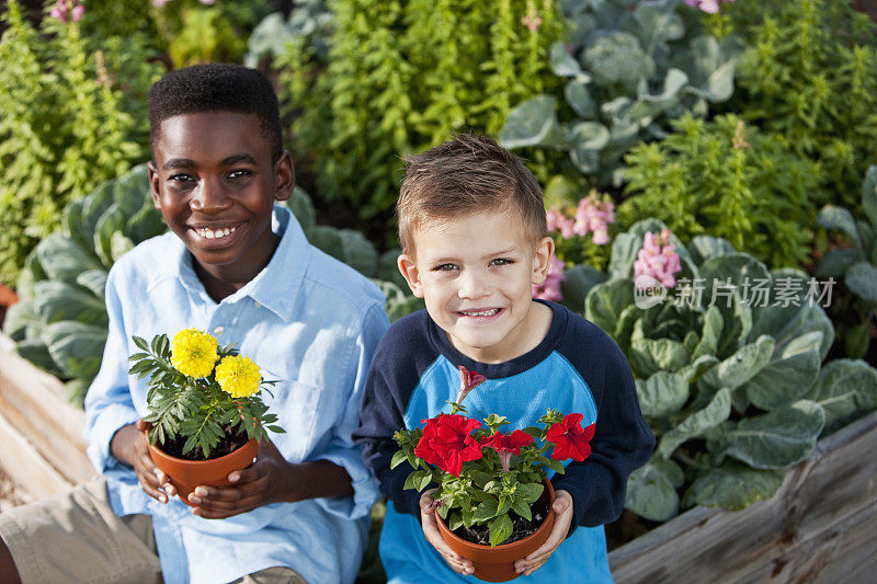
[[[731,96],[739,44],[702,34],[682,0],[578,0],[566,13],[571,44],[555,43],[550,53],[566,87],[519,102],[500,133],[508,148],[567,151],[599,186],[617,186],[634,144],[661,138],[670,119],[702,116]]]

